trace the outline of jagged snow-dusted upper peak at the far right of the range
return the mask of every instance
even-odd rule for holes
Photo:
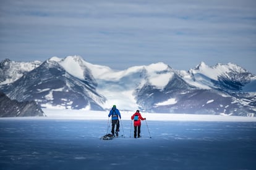
[[[188,72],[179,71],[187,83],[203,89],[220,89],[221,91],[256,92],[256,77],[247,70],[233,63],[216,64],[209,67],[204,62]]]

